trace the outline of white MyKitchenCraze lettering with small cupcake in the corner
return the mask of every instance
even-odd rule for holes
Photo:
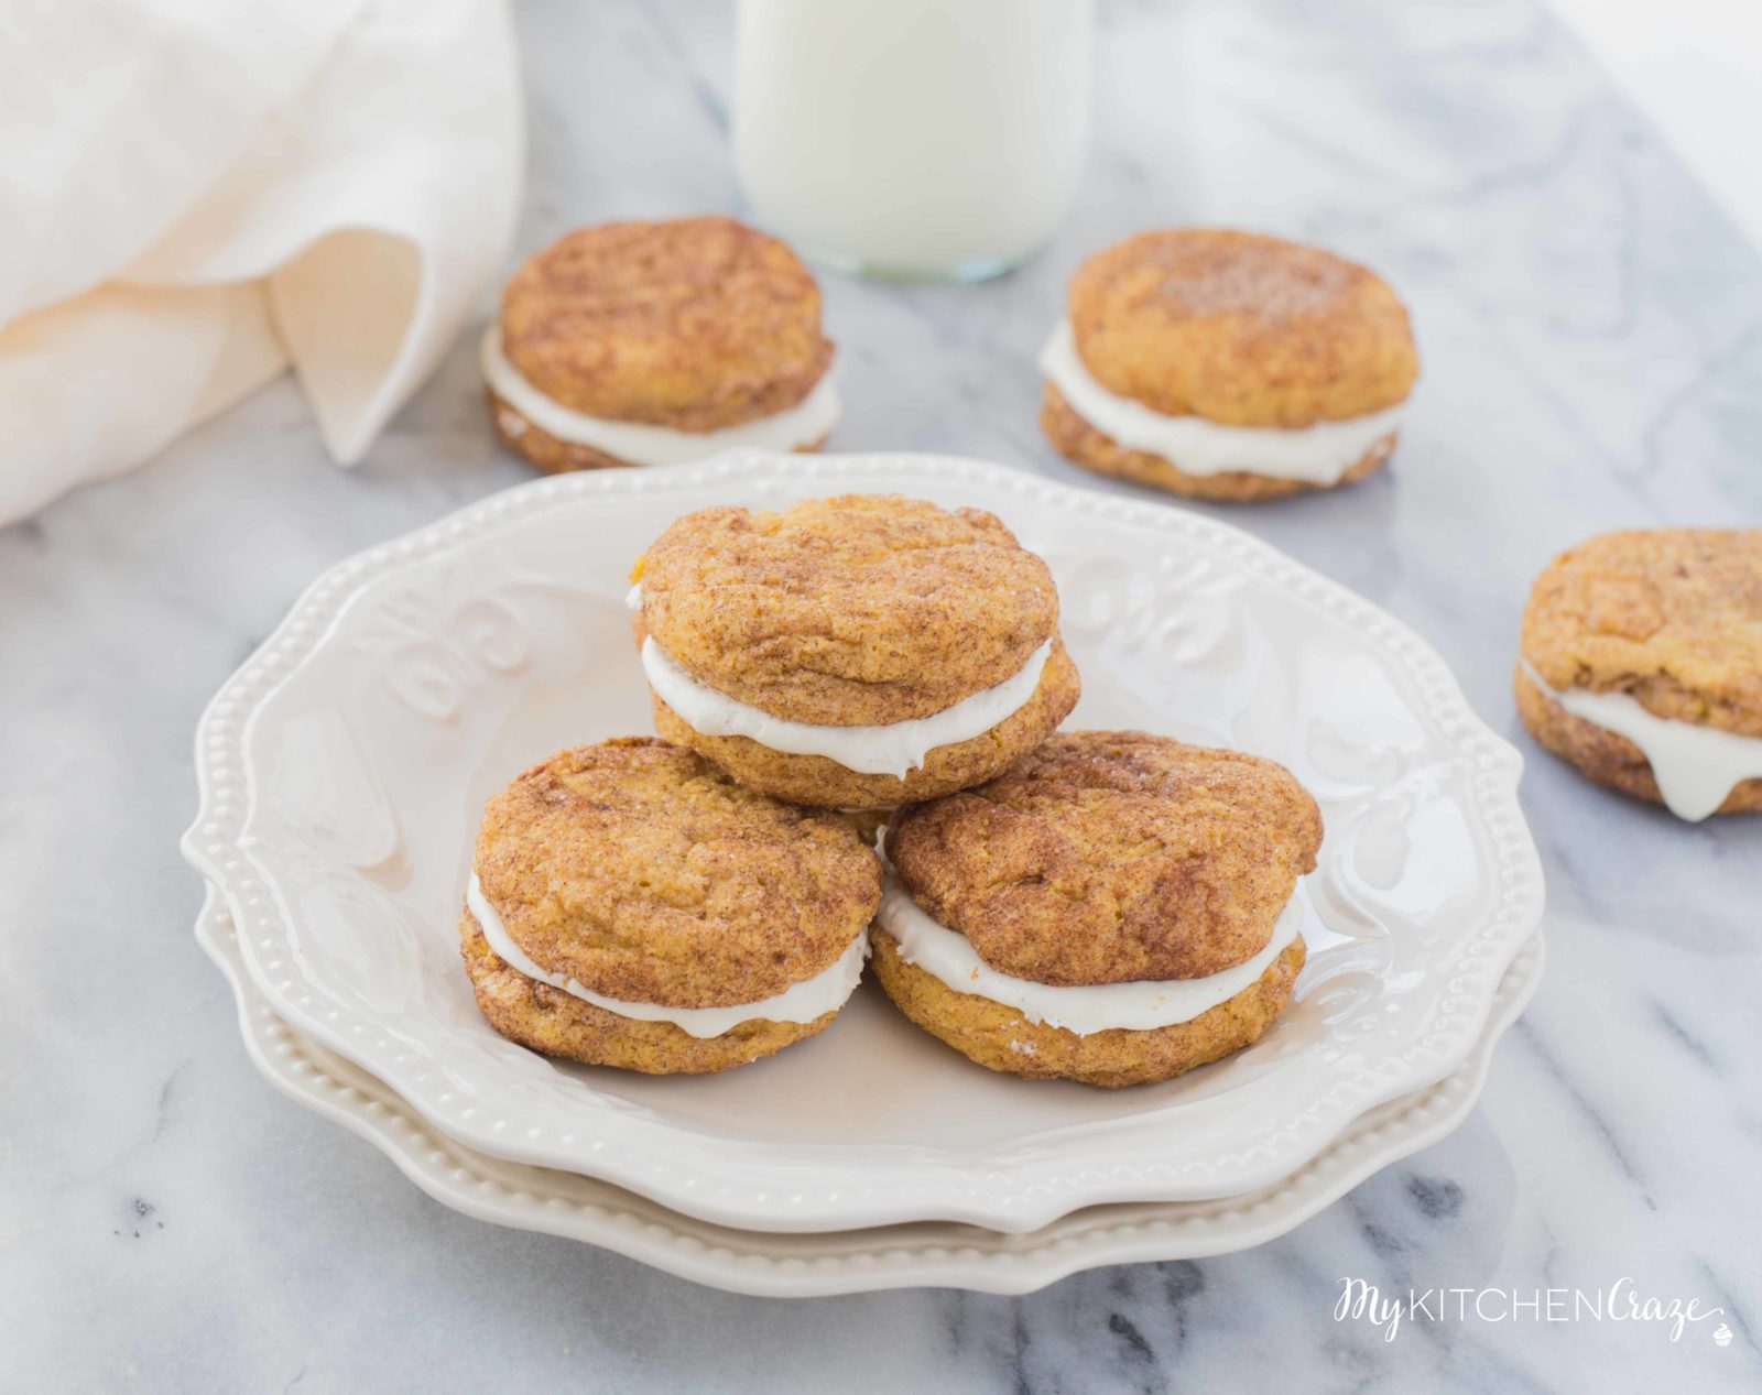
[[[1695,1298],[1647,1298],[1632,1279],[1618,1279],[1607,1289],[1496,1289],[1429,1288],[1385,1296],[1364,1279],[1341,1279],[1334,1321],[1359,1321],[1376,1326],[1385,1342],[1396,1340],[1403,1321],[1466,1323],[1658,1323],[1672,1342],[1683,1340],[1690,1323],[1718,1318],[1725,1309],[1700,1307]],[[1720,1323],[1713,1340],[1721,1347],[1732,1330]]]

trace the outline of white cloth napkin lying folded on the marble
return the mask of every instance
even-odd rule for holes
[[[354,463],[525,160],[506,0],[4,0],[0,523],[292,365]]]

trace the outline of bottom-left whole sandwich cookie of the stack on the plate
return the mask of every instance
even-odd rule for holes
[[[546,1055],[708,1073],[823,1030],[881,861],[849,821],[652,736],[564,750],[490,800],[460,937],[478,1006]]]

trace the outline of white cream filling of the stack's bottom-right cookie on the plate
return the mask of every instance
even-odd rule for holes
[[[1302,919],[1302,907],[1292,898],[1272,926],[1272,939],[1258,955],[1205,978],[1055,988],[992,969],[966,935],[925,914],[893,875],[888,875],[881,909],[876,912],[881,928],[899,942],[906,963],[923,969],[957,993],[1001,1002],[1029,1022],[1062,1027],[1077,1036],[1117,1029],[1149,1032],[1191,1022],[1265,974],[1267,965],[1297,939]]]

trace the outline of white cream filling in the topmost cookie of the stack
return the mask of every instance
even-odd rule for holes
[[[627,604],[631,609],[641,609],[640,585],[631,590]],[[717,692],[685,673],[654,636],[643,639],[643,673],[655,696],[673,708],[685,726],[705,736],[745,736],[786,756],[825,756],[860,775],[900,779],[920,768],[937,747],[971,742],[1020,712],[1040,687],[1040,675],[1050,655],[1048,639],[1010,678],[929,717],[848,727],[791,722]]]

